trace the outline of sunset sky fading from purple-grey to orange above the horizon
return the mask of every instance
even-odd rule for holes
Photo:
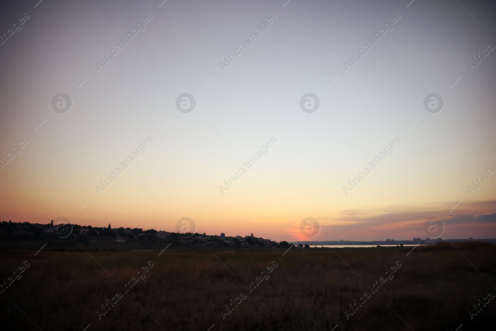
[[[0,220],[176,231],[189,217],[280,241],[434,238],[435,218],[443,239],[495,238],[495,8],[11,3]]]

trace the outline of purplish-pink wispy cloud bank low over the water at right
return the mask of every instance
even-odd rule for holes
[[[443,220],[443,238],[494,238],[496,236],[496,201],[467,202],[449,213],[452,203],[422,206],[421,212],[409,208],[344,210],[319,219],[322,230],[313,240],[385,240],[425,238],[424,222],[430,217]],[[388,212],[389,211],[389,212]],[[305,240],[295,224],[287,233],[295,240]]]

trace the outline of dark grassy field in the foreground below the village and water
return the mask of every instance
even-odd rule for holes
[[[284,256],[280,249],[169,248],[160,256],[161,250],[35,256],[36,250],[2,249],[0,281],[9,285],[0,294],[0,328],[494,330],[496,298],[488,294],[496,294],[495,245],[411,249],[291,249]],[[147,272],[138,274],[143,267]],[[386,274],[391,267],[395,272]],[[355,302],[364,303],[351,315]]]

